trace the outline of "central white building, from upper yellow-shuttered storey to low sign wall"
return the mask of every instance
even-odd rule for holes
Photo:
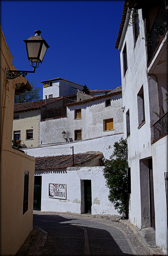
[[[41,106],[41,145],[24,149],[36,158],[34,209],[118,214],[108,200],[102,159],[109,159],[123,136],[121,87],[78,92],[77,101],[65,104],[63,99]]]

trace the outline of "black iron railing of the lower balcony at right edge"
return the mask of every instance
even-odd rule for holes
[[[164,114],[154,125],[154,140],[168,133],[168,112]]]

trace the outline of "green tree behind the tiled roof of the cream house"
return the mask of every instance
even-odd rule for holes
[[[29,82],[29,81],[28,81]],[[40,87],[35,86],[32,82],[29,84],[32,87],[32,90],[30,92],[25,91],[23,93],[20,93],[20,95],[14,96],[14,104],[15,103],[22,103],[22,102],[30,102],[34,100],[40,100]]]

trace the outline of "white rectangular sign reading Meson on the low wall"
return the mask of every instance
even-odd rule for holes
[[[66,184],[49,183],[49,197],[66,199]]]

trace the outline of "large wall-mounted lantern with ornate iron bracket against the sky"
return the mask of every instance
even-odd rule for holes
[[[30,36],[28,40],[23,40],[26,43],[26,50],[28,54],[28,60],[31,62],[33,71],[24,71],[24,70],[7,70],[6,79],[14,79],[18,76],[25,77],[28,73],[35,73],[36,68],[38,68],[39,63],[42,63],[44,55],[46,53],[48,46],[46,40],[40,36],[41,31],[36,30],[34,36]]]

